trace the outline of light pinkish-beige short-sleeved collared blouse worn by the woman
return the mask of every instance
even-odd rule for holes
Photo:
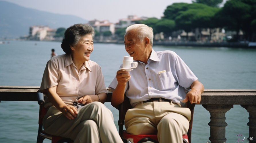
[[[101,67],[89,60],[78,71],[70,54],[55,56],[46,64],[40,91],[56,85],[63,102],[71,105],[77,98],[107,93]],[[47,96],[45,102],[45,107],[51,106]]]

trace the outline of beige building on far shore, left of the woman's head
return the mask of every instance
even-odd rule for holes
[[[53,36],[56,33],[56,29],[51,29],[49,26],[34,25],[29,28],[30,40],[54,40]]]

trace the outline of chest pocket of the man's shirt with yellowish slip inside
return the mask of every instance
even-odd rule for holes
[[[171,72],[163,72],[157,75],[157,86],[159,90],[174,89],[175,79]]]

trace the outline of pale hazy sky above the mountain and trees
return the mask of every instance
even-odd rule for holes
[[[58,14],[69,14],[86,20],[109,20],[118,22],[128,15],[139,17],[163,16],[168,5],[191,0],[5,0],[23,7]],[[226,0],[224,0],[226,1]]]

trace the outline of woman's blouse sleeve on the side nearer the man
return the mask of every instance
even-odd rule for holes
[[[97,80],[96,80],[96,86],[95,86],[95,94],[99,93],[108,93],[106,90],[106,86],[104,83],[104,76],[101,71],[101,67],[99,66],[99,69],[97,70]]]

